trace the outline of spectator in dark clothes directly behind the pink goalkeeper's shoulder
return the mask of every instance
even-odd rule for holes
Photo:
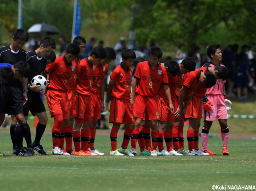
[[[222,52],[222,63],[228,68],[228,96],[235,97],[233,93],[234,84],[236,81],[236,55],[233,53],[232,45],[228,45]]]

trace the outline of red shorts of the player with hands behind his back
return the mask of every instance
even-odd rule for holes
[[[112,98],[110,102],[110,123],[135,123],[132,114],[132,104],[120,99]]]

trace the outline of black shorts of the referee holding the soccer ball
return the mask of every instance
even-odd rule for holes
[[[28,110],[33,116],[46,111],[39,92],[28,90],[28,102],[23,106],[23,110],[24,116],[28,116]]]

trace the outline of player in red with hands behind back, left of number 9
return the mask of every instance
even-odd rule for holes
[[[110,132],[110,155],[114,156],[134,156],[127,149],[130,136],[134,130],[134,115],[130,102],[132,83],[131,66],[134,63],[134,59],[136,59],[136,54],[132,49],[122,51],[122,62],[112,71],[108,84],[108,94],[111,97],[109,122],[113,123]],[[116,149],[117,134],[121,124],[127,124],[127,127],[124,131],[122,145],[119,149]]]

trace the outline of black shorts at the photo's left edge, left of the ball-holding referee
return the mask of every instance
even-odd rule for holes
[[[23,113],[22,85],[5,85],[0,88],[0,113],[19,114]]]

